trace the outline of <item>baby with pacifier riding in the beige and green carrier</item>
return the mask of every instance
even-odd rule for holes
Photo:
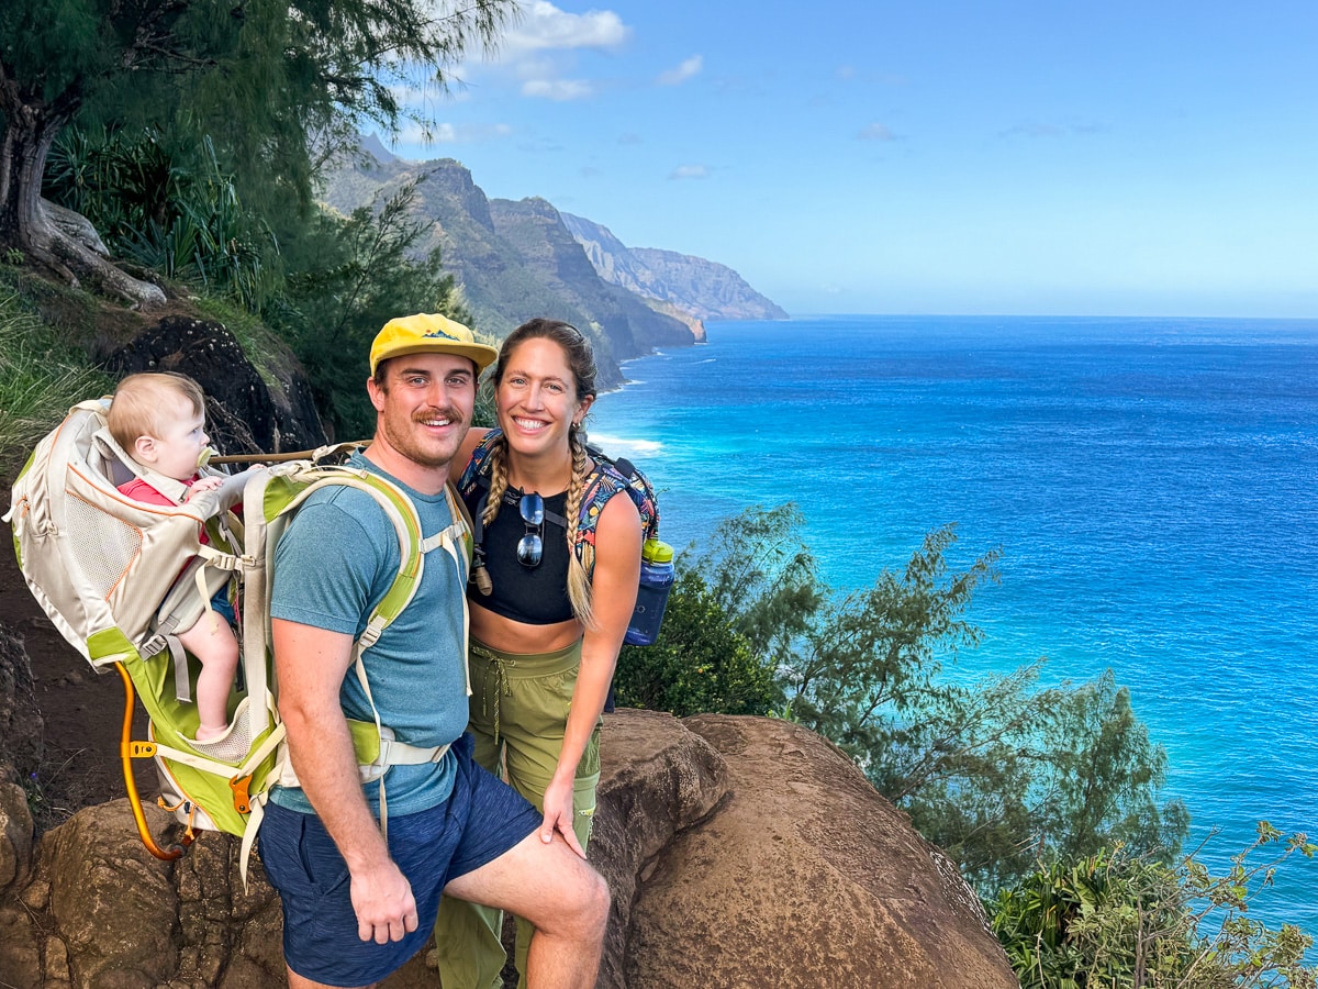
[[[224,479],[199,477],[198,463],[211,438],[206,435],[206,397],[183,375],[129,375],[119,382],[107,415],[109,434],[140,465],[188,485],[185,500],[219,488]],[[150,505],[173,505],[141,477],[119,489]],[[206,530],[200,541],[208,542]],[[216,595],[216,599],[221,599]],[[224,609],[228,603],[219,601]],[[231,612],[232,613],[232,612]],[[202,663],[196,678],[198,741],[212,741],[228,729],[229,688],[239,666],[239,644],[225,617],[207,608],[191,628],[178,632],[183,647]]]

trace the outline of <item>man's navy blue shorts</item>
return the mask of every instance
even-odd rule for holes
[[[283,959],[326,985],[378,982],[428,940],[449,880],[494,861],[540,827],[542,816],[513,787],[472,761],[472,736],[452,748],[453,793],[438,807],[389,818],[389,853],[413,887],[416,930],[399,942],[357,938],[348,866],[314,814],[266,804],[261,862],[283,903]]]

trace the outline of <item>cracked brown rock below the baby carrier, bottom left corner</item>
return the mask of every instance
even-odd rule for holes
[[[144,811],[154,833],[174,827]],[[5,985],[282,984],[278,898],[258,864],[244,891],[236,854],[236,839],[203,833],[163,862],[138,840],[127,799],[79,811],[42,836],[34,878],[0,905]]]

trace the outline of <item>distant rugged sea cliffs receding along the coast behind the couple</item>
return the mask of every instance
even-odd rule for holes
[[[500,338],[534,315],[564,319],[596,339],[605,388],[621,384],[619,361],[702,342],[705,319],[787,315],[725,265],[630,252],[606,228],[544,199],[486,198],[452,158],[410,162],[368,146],[369,160],[328,175],[324,202],[351,212],[415,182],[411,214],[424,228],[416,251],[440,251],[476,328]]]

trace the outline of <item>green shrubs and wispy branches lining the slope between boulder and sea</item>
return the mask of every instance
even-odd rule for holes
[[[659,641],[622,650],[619,703],[768,711],[832,738],[957,860],[1025,989],[1314,985],[1311,938],[1247,913],[1282,862],[1313,856],[1304,835],[1260,824],[1214,876],[1202,849],[1181,854],[1166,753],[1111,671],[1043,687],[1043,659],[952,669],[982,640],[966,613],[999,579],[996,550],[950,572],[945,526],[903,570],[834,595],[801,524],[793,505],[753,508],[680,554]]]

